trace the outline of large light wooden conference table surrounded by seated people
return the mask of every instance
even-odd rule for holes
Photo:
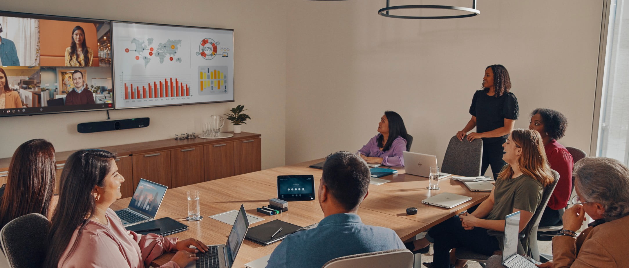
[[[308,166],[321,162],[312,160],[284,167],[260,170],[248,174],[226,177],[214,181],[201,182],[189,186],[169,189],[162,201],[156,218],[170,217],[189,226],[189,230],[175,233],[172,237],[181,239],[196,238],[207,245],[222,244],[227,241],[231,225],[209,218],[211,215],[240,208],[244,204],[247,213],[264,221],[252,223],[256,226],[272,220],[282,220],[299,226],[308,226],[323,219],[323,211],[317,200],[289,202],[288,211],[279,215],[268,216],[258,213],[256,208],[269,204],[269,199],[277,198],[276,180],[279,175],[312,174],[315,176],[315,188],[319,187],[322,170]],[[403,168],[398,174],[382,177],[391,180],[386,184],[369,185],[369,195],[360,204],[358,215],[367,225],[391,228],[404,241],[413,238],[428,228],[484,201],[489,193],[471,192],[459,181],[442,179],[438,191],[428,190],[428,178],[404,174]],[[124,174],[123,174],[124,176]],[[150,180],[150,178],[147,178]],[[201,221],[186,221],[187,191],[201,191]],[[472,197],[472,201],[460,204],[452,209],[439,208],[421,203],[422,199],[439,193],[455,193]],[[116,201],[111,208],[126,208],[131,198]],[[406,215],[406,208],[418,209],[416,215]],[[244,267],[247,262],[259,259],[273,252],[279,245],[272,243],[266,247],[249,240],[243,242],[233,267]],[[165,264],[172,258],[173,252],[164,254],[153,261],[154,266]]]

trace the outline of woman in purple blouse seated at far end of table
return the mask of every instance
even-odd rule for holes
[[[378,132],[358,152],[367,163],[377,163],[389,167],[403,167],[406,151],[406,127],[398,113],[386,111],[380,123]]]

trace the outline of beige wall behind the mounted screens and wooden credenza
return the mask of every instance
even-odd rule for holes
[[[104,111],[16,116],[0,119],[0,157],[11,157],[22,142],[46,138],[58,151],[172,138],[201,132],[201,122],[244,104],[252,120],[243,131],[262,134],[262,168],[284,165],[286,117],[286,8],[281,0],[213,1],[3,1],[2,9],[235,30],[235,103],[196,104],[111,111],[112,119],[150,117],[147,128],[77,133],[82,122],[106,119]],[[231,130],[231,126],[225,127]],[[225,130],[223,128],[223,130]]]

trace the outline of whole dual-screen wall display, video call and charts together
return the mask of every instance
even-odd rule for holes
[[[0,11],[0,116],[234,101],[233,30]]]

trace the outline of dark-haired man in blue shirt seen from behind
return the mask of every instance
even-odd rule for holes
[[[406,248],[389,228],[365,225],[356,214],[367,197],[369,167],[350,152],[328,156],[318,190],[325,218],[316,228],[284,238],[267,268],[321,268],[331,259],[353,254]]]

